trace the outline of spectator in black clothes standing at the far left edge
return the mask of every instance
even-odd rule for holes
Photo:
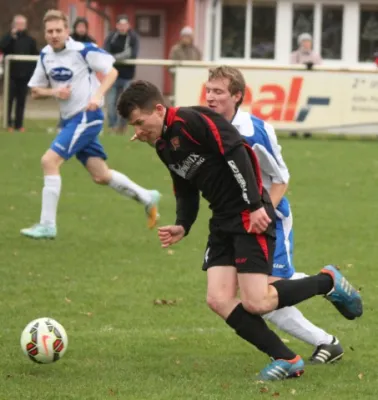
[[[37,44],[27,30],[27,19],[23,15],[13,18],[12,28],[0,40],[0,51],[8,54],[37,55]],[[8,130],[23,131],[24,111],[28,82],[32,76],[35,63],[30,61],[12,61],[10,67],[9,101],[8,101]],[[12,120],[13,103],[16,103],[15,119]]]

